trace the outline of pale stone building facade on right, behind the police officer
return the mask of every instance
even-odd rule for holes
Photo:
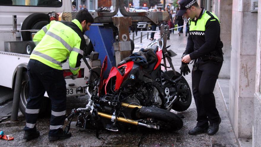
[[[219,78],[229,80],[228,114],[235,136],[261,144],[261,0],[199,0],[221,24],[224,62]]]

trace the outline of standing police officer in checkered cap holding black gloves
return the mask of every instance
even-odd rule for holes
[[[200,8],[196,0],[181,0],[178,16],[190,17],[187,47],[182,56],[181,73],[190,72],[187,64],[194,60],[192,91],[197,107],[197,125],[188,133],[214,135],[221,118],[216,108],[214,87],[223,63],[220,22],[216,15]]]

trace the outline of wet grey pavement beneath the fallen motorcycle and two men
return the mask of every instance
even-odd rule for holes
[[[159,35],[158,33],[155,33],[155,38],[157,37],[159,37]],[[143,45],[147,45],[149,42],[150,40],[144,39],[142,44],[139,44],[139,41],[135,41],[135,45],[142,47]],[[185,37],[185,34],[182,34],[180,37],[178,34],[171,34],[170,40],[167,42],[167,45],[171,45],[170,49],[177,53],[177,56],[172,58],[174,67],[177,71],[179,71],[179,67],[181,65],[181,56],[185,50],[186,43],[187,37]],[[189,67],[192,69],[192,65],[189,65]],[[191,87],[191,73],[186,75],[185,78]],[[0,129],[6,132],[7,135],[15,137],[13,141],[0,140],[0,146],[238,146],[217,84],[214,94],[216,97],[217,109],[222,118],[222,122],[220,124],[219,132],[213,136],[209,136],[206,133],[195,136],[188,135],[187,132],[189,129],[192,129],[196,125],[197,116],[195,102],[192,98],[190,108],[184,112],[181,112],[181,114],[185,116],[183,119],[184,127],[176,132],[161,132],[157,130],[144,131],[143,129],[139,129],[136,132],[102,131],[100,132],[100,137],[103,137],[104,140],[99,140],[96,138],[95,130],[79,131],[77,129],[71,129],[73,135],[71,138],[50,142],[48,140],[49,118],[41,118],[37,121],[37,128],[41,132],[41,136],[37,140],[25,141],[22,139],[25,118],[20,116],[19,121],[4,121],[0,123]],[[67,113],[69,113],[72,108],[85,106],[85,101],[86,97],[71,97],[67,99]]]

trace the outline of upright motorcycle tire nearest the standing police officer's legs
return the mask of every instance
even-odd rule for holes
[[[172,109],[175,111],[182,112],[187,110],[190,107],[191,100],[192,100],[192,94],[191,94],[190,86],[187,83],[187,80],[179,72],[176,72],[176,75],[174,75],[174,72],[172,70],[169,70],[166,73],[169,77],[171,77],[172,80],[175,80],[176,78],[179,78],[181,76],[182,79],[180,80],[180,82],[185,83],[189,88],[185,100],[183,101],[182,99],[179,99],[172,105]]]

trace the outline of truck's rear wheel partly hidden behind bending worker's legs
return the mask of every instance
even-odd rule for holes
[[[27,72],[23,72],[19,109],[23,113],[24,116],[26,114],[27,99],[29,97],[29,94],[28,94],[28,81],[29,81],[28,73]],[[51,114],[51,102],[50,102],[50,99],[48,97],[44,97],[42,99],[42,104],[41,104],[40,111],[39,111],[39,117],[50,116],[50,114]]]

